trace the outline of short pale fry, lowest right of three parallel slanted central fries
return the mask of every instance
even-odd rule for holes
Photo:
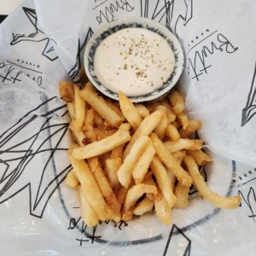
[[[148,172],[148,167],[153,160],[154,154],[154,146],[152,143],[149,143],[148,147],[145,148],[143,154],[137,160],[137,163],[132,170],[132,177],[134,178],[136,184],[143,183],[143,179],[146,172]]]

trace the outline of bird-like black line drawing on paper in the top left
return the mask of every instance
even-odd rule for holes
[[[13,39],[10,42],[11,45],[20,44],[21,42],[43,42],[45,41],[45,46],[42,52],[49,61],[55,61],[58,56],[55,53],[54,45],[55,42],[53,39],[49,38],[44,31],[38,28],[38,17],[35,9],[30,9],[26,7],[22,7],[26,17],[30,20],[33,28],[32,32],[28,33],[14,33],[13,32]]]

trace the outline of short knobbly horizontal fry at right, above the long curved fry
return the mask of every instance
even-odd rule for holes
[[[177,152],[182,149],[189,149],[189,150],[201,149],[202,144],[203,144],[202,140],[190,140],[190,139],[183,139],[183,138],[179,138],[175,142],[168,141],[164,143],[165,147],[171,153]]]

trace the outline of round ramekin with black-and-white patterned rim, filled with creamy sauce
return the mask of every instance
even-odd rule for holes
[[[118,100],[122,90],[132,102],[164,96],[183,72],[183,49],[165,26],[154,20],[116,20],[90,38],[85,72],[104,95]]]

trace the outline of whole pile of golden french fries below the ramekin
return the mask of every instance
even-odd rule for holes
[[[158,102],[134,104],[119,91],[119,102],[100,96],[87,82],[82,89],[61,82],[75,142],[67,151],[73,166],[68,187],[77,189],[84,223],[129,221],[155,211],[166,225],[172,208],[187,207],[193,183],[202,199],[236,208],[239,195],[225,197],[207,187],[200,166],[212,162],[193,139],[200,120],[189,120],[177,90]]]

